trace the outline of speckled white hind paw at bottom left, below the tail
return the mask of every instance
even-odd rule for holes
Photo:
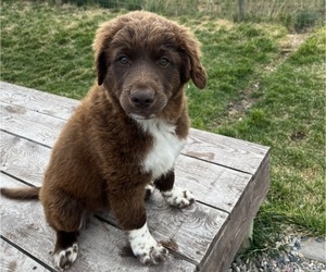
[[[77,244],[73,244],[72,247],[55,252],[53,255],[53,262],[55,269],[58,269],[59,271],[68,269],[73,264],[73,262],[77,259],[77,255],[78,255]]]

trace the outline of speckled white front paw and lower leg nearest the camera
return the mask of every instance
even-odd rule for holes
[[[128,238],[134,255],[146,265],[158,264],[164,261],[168,255],[167,249],[162,247],[149,233],[147,223],[141,228],[130,231]]]

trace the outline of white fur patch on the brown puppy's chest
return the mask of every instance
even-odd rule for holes
[[[180,139],[175,134],[175,125],[163,120],[153,119],[138,121],[138,123],[154,139],[152,149],[142,162],[143,171],[152,172],[152,178],[154,180],[173,169],[177,156],[186,144],[186,139]]]

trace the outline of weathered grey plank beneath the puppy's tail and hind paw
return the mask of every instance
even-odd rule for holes
[[[17,181],[2,173],[0,178],[1,186],[22,186]],[[41,205],[38,201],[17,202],[2,198],[0,214],[1,235],[54,269],[50,254],[54,247],[54,232],[45,221]],[[91,219],[88,227],[80,233],[79,257],[70,271],[196,271],[195,264],[172,255],[162,265],[143,267],[136,258],[126,254],[126,246],[122,231]]]

